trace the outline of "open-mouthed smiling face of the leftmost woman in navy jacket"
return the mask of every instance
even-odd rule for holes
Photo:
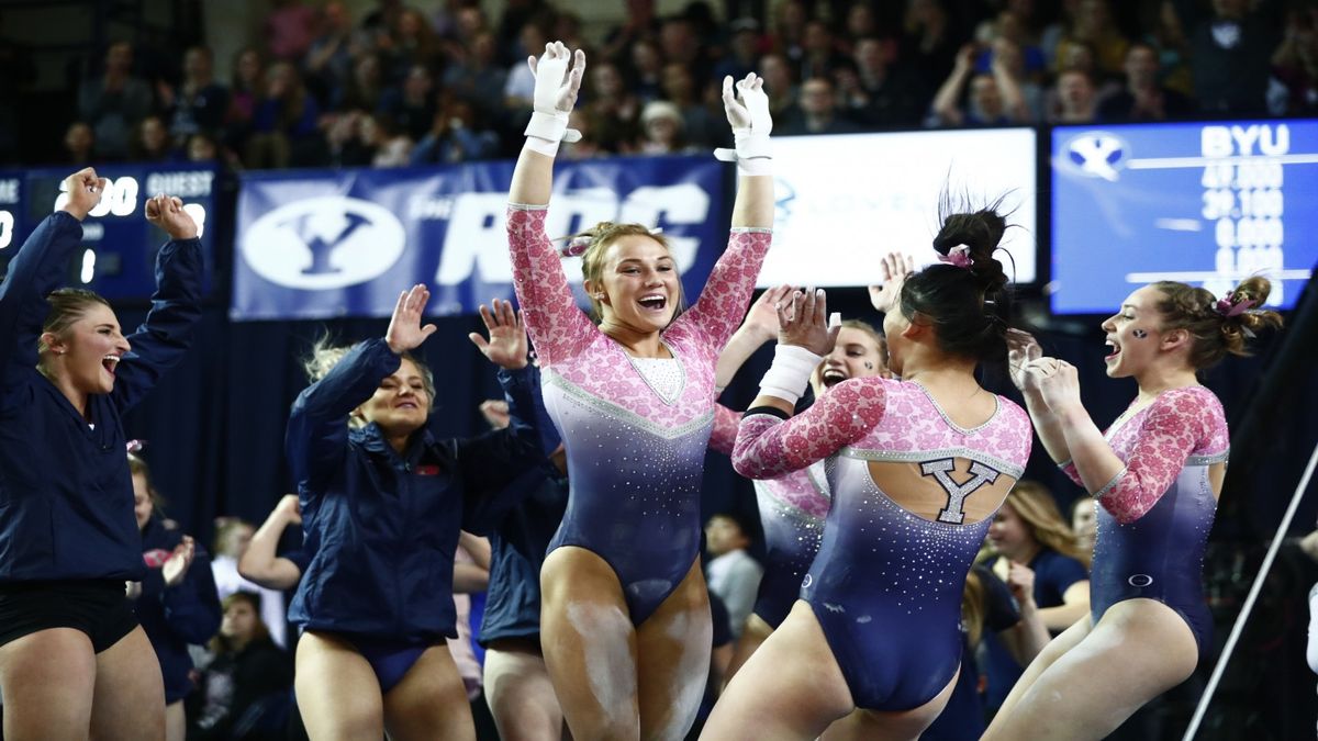
[[[86,303],[66,330],[45,332],[42,341],[49,348],[43,355],[54,355],[54,363],[43,359],[43,367],[82,394],[112,392],[115,369],[129,351],[115,311],[98,302]]]

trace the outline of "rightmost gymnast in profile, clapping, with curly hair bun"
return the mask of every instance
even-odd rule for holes
[[[1198,372],[1281,326],[1260,309],[1267,278],[1223,298],[1161,281],[1102,323],[1112,378],[1139,384],[1101,432],[1081,405],[1075,367],[1023,340],[1012,378],[1048,455],[1094,496],[1098,537],[1090,610],[1025,668],[985,738],[1102,738],[1180,684],[1213,647],[1203,548],[1227,464],[1222,403]]]

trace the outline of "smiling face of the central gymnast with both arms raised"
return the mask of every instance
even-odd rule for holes
[[[585,281],[604,323],[646,334],[667,327],[681,291],[668,248],[647,235],[622,235],[604,251],[598,278]]]

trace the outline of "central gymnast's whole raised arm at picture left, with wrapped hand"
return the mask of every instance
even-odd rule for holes
[[[552,365],[571,356],[593,331],[577,309],[559,253],[544,233],[559,142],[581,136],[567,128],[567,120],[581,87],[585,54],[580,50],[569,54],[561,42],[555,42],[544,46],[539,59],[531,57],[527,63],[535,74],[535,112],[526,127],[526,144],[507,194],[507,247],[517,301],[540,361]]]

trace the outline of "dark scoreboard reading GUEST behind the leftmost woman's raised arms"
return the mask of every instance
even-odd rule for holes
[[[63,179],[72,167],[0,170],[0,274],[28,235],[69,198]],[[146,199],[178,196],[200,229],[208,265],[215,219],[216,170],[192,163],[105,165],[105,193],[83,220],[83,248],[69,265],[66,285],[91,289],[107,299],[146,299],[156,290],[156,253],[169,235],[146,222]],[[207,272],[210,274],[210,272]],[[207,290],[210,282],[207,282]]]

